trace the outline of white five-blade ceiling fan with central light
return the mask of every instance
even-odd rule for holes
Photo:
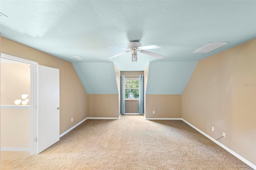
[[[117,57],[118,55],[122,55],[124,53],[128,53],[130,51],[132,51],[132,61],[136,61],[138,60],[137,58],[137,51],[140,51],[141,53],[147,54],[147,55],[151,55],[153,57],[156,58],[164,58],[164,55],[160,55],[160,54],[156,54],[156,53],[152,53],[150,51],[145,51],[144,49],[156,49],[156,48],[161,48],[158,45],[148,45],[148,46],[141,46],[140,42],[129,42],[126,47],[110,47],[110,48],[124,48],[124,49],[129,49],[128,51],[124,51],[122,53],[113,55],[112,57],[109,57],[108,59],[112,59],[114,57]]]

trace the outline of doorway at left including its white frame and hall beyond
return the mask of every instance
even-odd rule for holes
[[[37,62],[1,53],[1,150],[36,154]]]

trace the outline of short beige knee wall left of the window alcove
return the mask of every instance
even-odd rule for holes
[[[88,94],[88,117],[118,118],[118,94]]]

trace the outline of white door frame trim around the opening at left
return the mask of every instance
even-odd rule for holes
[[[30,64],[30,154],[36,154],[38,134],[38,62],[1,53],[1,58]]]

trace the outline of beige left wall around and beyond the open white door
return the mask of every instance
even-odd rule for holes
[[[1,52],[60,69],[60,134],[88,117],[87,93],[72,63],[4,37]]]

